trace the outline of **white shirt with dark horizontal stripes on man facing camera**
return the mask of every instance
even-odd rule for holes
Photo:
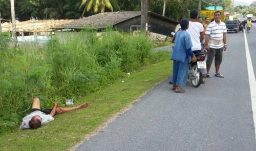
[[[222,21],[220,21],[220,24],[217,24],[214,20],[208,25],[205,35],[210,35],[210,39],[223,40],[223,33],[227,33],[226,24]],[[223,47],[223,42],[218,45],[209,42],[208,45],[210,48],[219,49]]]

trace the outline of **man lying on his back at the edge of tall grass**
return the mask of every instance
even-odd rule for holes
[[[32,112],[22,119],[23,122],[20,123],[19,128],[38,128],[41,126],[41,124],[52,121],[53,117],[57,114],[74,111],[86,106],[88,106],[88,103],[82,103],[75,107],[63,108],[58,107],[58,101],[55,101],[53,109],[40,110],[40,100],[38,97],[34,97],[32,103]]]

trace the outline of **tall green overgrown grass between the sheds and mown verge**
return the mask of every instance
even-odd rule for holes
[[[54,99],[88,95],[166,54],[154,52],[146,34],[131,37],[110,29],[100,36],[67,32],[44,46],[18,49],[9,48],[9,40],[0,34],[0,132],[18,126],[33,96],[40,98],[41,108],[52,107]]]

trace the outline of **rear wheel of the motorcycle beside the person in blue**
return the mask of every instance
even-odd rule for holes
[[[190,82],[193,85],[193,87],[197,88],[201,85],[203,76],[202,76],[201,72],[199,71],[197,64],[194,64],[191,67],[190,71],[194,77],[194,78],[190,78]]]

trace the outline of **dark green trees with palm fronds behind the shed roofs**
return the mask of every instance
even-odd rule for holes
[[[89,16],[104,11],[139,11],[140,0],[19,0],[15,1],[16,17],[19,20],[69,19]],[[198,1],[166,0],[165,16],[179,20],[189,18],[191,10],[198,10]],[[164,0],[148,0],[148,10],[162,14]],[[233,10],[231,0],[221,0],[225,10]],[[202,1],[202,10],[212,6],[212,1]],[[5,19],[10,19],[9,0],[0,0],[0,11]]]

